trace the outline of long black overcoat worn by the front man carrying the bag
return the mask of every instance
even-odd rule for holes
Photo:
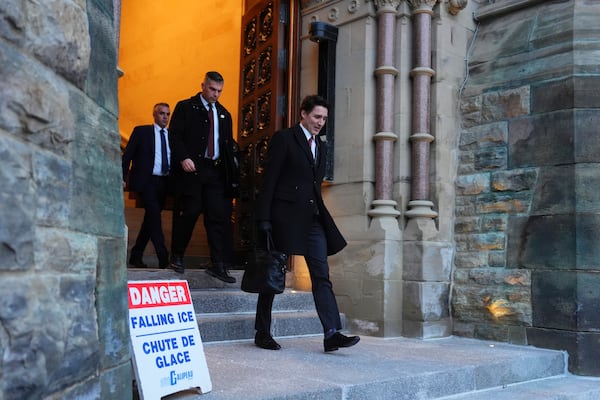
[[[271,221],[275,246],[287,254],[306,254],[315,208],[327,237],[327,253],[335,254],[346,246],[321,194],[325,145],[318,143],[317,151],[314,165],[299,125],[276,132],[269,143],[256,219]]]

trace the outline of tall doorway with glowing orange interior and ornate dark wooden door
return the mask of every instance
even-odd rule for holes
[[[223,74],[225,87],[220,101],[234,116],[234,135],[237,133],[242,157],[242,193],[234,213],[236,251],[241,254],[253,243],[253,193],[262,157],[259,150],[290,115],[287,99],[293,89],[288,82],[293,73],[289,60],[294,51],[294,29],[289,21],[298,11],[290,10],[287,1],[225,0],[218,7],[211,6],[209,12],[206,3],[184,0],[168,9],[154,3],[121,4],[119,129],[124,146],[136,125],[152,122],[155,103],[167,102],[173,110],[177,101],[200,91],[206,71]],[[248,42],[253,23],[254,47]],[[125,193],[128,248],[144,213],[131,197]],[[170,247],[168,210],[163,213],[163,230]],[[152,245],[145,254],[146,263],[157,266]],[[208,261],[206,235],[199,220],[186,251],[186,264],[201,267]]]

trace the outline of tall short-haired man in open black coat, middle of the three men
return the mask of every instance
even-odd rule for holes
[[[233,266],[233,198],[238,189],[238,145],[231,114],[219,103],[223,76],[207,72],[202,92],[177,103],[169,125],[175,182],[171,263],[183,273],[184,253],[194,226],[204,215],[211,265],[206,272],[235,283]]]

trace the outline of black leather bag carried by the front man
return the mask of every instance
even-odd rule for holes
[[[288,256],[275,250],[271,234],[266,239],[267,248],[257,249],[253,262],[246,264],[241,285],[244,292],[279,294],[285,289]]]

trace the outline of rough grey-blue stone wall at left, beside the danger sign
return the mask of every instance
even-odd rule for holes
[[[0,3],[0,398],[131,397],[112,0]]]

